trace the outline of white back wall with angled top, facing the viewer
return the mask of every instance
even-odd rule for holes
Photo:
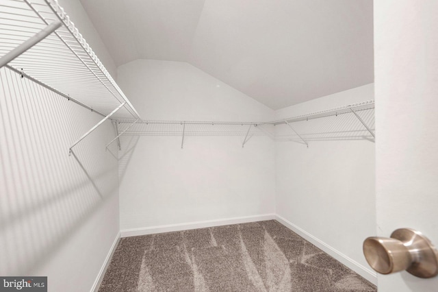
[[[118,84],[143,119],[266,121],[273,111],[183,62],[136,60]],[[246,129],[246,127],[245,127]],[[274,212],[274,142],[254,136],[121,139],[120,228]],[[135,143],[136,141],[136,143]]]

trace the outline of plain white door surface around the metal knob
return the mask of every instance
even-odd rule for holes
[[[414,228],[438,245],[438,1],[374,1],[377,234]],[[378,291],[438,278],[378,276]]]

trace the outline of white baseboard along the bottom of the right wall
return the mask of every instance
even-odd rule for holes
[[[309,232],[306,232],[305,230],[302,230],[295,224],[287,221],[283,217],[276,215],[276,221],[279,221],[281,224],[295,232],[296,234],[300,235],[302,238],[306,239],[313,245],[320,248],[320,250],[326,252],[327,254],[333,256],[336,260],[341,262],[342,264],[346,265],[348,268],[352,269],[356,273],[358,273],[363,278],[367,279],[368,281],[372,282],[373,284],[377,285],[377,274],[376,272],[372,271],[372,269],[368,269],[367,267],[363,267],[363,265],[357,263],[357,261],[353,260],[352,258],[349,258],[345,254],[342,254],[342,252],[339,252],[338,250],[335,250],[330,245],[324,243],[324,241],[321,241],[320,239],[317,239],[315,236],[310,234]]]

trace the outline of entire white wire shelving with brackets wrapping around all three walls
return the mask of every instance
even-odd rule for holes
[[[70,101],[104,117],[71,147],[111,119],[120,136],[270,136],[270,125],[285,124],[307,146],[291,123],[333,115],[355,114],[372,134],[374,132],[357,112],[374,109],[374,101],[350,104],[320,112],[268,122],[230,121],[147,121],[142,120],[129,99],[107,72],[74,23],[56,0],[0,0],[0,67],[40,84]]]

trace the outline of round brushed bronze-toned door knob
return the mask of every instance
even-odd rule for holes
[[[420,278],[438,275],[438,250],[421,232],[409,228],[392,232],[391,238],[368,237],[363,254],[378,273],[406,270]]]

